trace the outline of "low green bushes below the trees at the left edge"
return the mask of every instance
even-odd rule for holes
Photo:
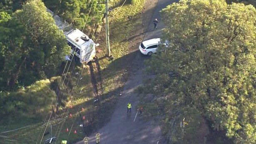
[[[50,80],[43,79],[17,92],[0,92],[1,122],[25,116],[40,120],[55,104],[56,94],[50,89]]]

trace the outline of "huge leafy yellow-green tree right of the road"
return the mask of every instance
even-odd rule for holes
[[[150,60],[148,70],[158,72],[150,85],[172,94],[171,110],[196,107],[235,143],[256,143],[255,8],[181,0],[161,13],[170,45]]]

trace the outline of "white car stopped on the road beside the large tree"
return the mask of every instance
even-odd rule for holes
[[[157,52],[157,47],[159,45],[168,46],[168,42],[166,41],[164,44],[161,44],[160,38],[146,40],[139,45],[139,51],[144,55],[152,55]]]

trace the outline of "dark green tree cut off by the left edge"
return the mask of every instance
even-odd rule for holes
[[[14,22],[7,12],[0,12],[0,89],[14,87],[25,64],[25,36],[22,25]]]

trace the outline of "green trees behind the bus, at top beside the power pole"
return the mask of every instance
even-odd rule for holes
[[[98,25],[103,17],[104,5],[97,4],[104,0],[44,0],[45,5],[60,15],[63,20],[85,30]]]

